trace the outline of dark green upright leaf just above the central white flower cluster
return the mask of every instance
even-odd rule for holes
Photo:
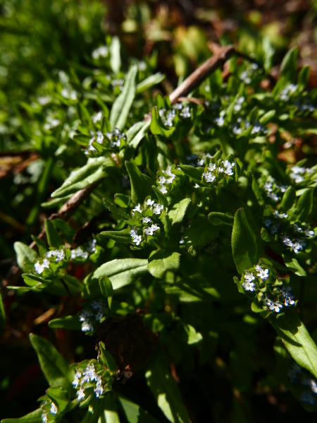
[[[153,181],[147,175],[142,174],[137,166],[131,162],[125,162],[125,167],[131,181],[131,200],[132,203],[143,203],[144,198],[150,196],[152,191]]]

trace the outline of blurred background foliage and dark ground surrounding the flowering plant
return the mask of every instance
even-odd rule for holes
[[[61,185],[66,169],[72,167],[75,152],[75,147],[70,148],[67,154],[53,162],[51,141],[48,140],[43,147],[27,136],[25,121],[30,119],[30,113],[25,105],[30,105],[49,89],[54,90],[56,83],[63,79],[61,71],[72,76],[73,80],[84,81],[89,70],[96,67],[92,52],[110,42],[113,35],[120,39],[125,70],[128,55],[138,60],[149,56],[156,58],[156,71],[167,76],[161,84],[164,93],[170,93],[178,81],[211,56],[208,40],[223,44],[234,42],[241,52],[253,56],[266,68],[272,67],[271,75],[275,78],[287,49],[298,46],[299,66],[311,66],[309,88],[317,86],[317,1],[1,0],[1,276],[15,261],[13,242],[28,243],[30,234],[40,232],[44,219],[50,214],[50,210],[41,208],[40,204],[48,201],[49,194]],[[263,63],[264,51],[269,63]],[[117,76],[120,77],[120,73]],[[299,143],[299,149],[316,157],[317,137],[311,136],[306,144]],[[85,156],[80,157],[77,166],[80,166],[80,160],[85,162]],[[93,199],[90,206],[93,208]],[[46,336],[49,329],[41,323],[46,322],[48,315],[43,313],[54,307],[53,300],[44,304],[44,300],[39,301],[31,294],[25,294],[19,302],[14,298],[9,301],[11,329],[4,333],[0,344],[2,351],[6,349],[0,369],[0,409],[4,414],[1,417],[12,417],[12,410],[15,415],[30,412],[34,408],[34,398],[42,395],[46,388],[35,353],[27,347],[27,334],[33,330]],[[266,335],[271,335],[263,335],[268,341]],[[56,338],[58,347],[67,356],[68,352],[63,351],[62,331],[56,332]],[[16,348],[12,339],[20,340],[20,346],[25,345],[23,359],[20,348]],[[273,338],[269,341],[272,343]],[[94,357],[94,349],[86,343],[75,350],[75,359],[78,361],[89,354]],[[6,375],[8,367],[14,368],[10,376]],[[225,363],[220,358],[214,370],[219,374],[219,380],[225,376]],[[242,369],[236,370],[239,374]],[[212,375],[208,372],[209,369],[201,367],[197,380],[206,379],[206,386],[201,389],[208,388],[208,397],[222,398],[218,408],[208,410],[218,422],[226,405],[229,407],[226,397],[229,386],[218,386],[217,381],[210,380]],[[194,378],[188,380],[194,383]],[[138,383],[137,378],[134,383]],[[133,398],[133,386],[126,389]],[[189,389],[187,386],[185,391]],[[142,402],[139,398],[137,401]],[[237,396],[237,404],[239,401]],[[259,387],[259,395],[254,401],[259,409],[258,422],[298,422],[302,418],[313,421],[316,418],[314,415],[307,417],[288,393],[282,392],[277,398]],[[204,407],[209,409],[208,404],[201,405],[200,398],[197,398],[198,405],[201,415],[204,415]],[[230,412],[226,419],[231,421]]]

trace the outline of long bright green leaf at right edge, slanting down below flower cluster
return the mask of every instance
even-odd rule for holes
[[[285,309],[280,316],[271,313],[268,318],[293,359],[317,378],[317,347],[297,314]]]

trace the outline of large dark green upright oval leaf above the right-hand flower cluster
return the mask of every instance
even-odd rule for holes
[[[240,274],[259,261],[256,234],[251,229],[243,208],[235,213],[232,229],[232,254],[235,266],[237,266],[237,271]]]

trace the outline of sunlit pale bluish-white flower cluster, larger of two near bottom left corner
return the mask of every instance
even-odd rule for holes
[[[99,372],[98,372],[99,373]],[[104,386],[102,385],[102,378],[94,368],[94,364],[90,363],[83,371],[76,371],[73,380],[73,386],[77,389],[77,400],[81,401],[85,398],[85,390],[93,388],[94,394],[99,398],[104,393]]]

